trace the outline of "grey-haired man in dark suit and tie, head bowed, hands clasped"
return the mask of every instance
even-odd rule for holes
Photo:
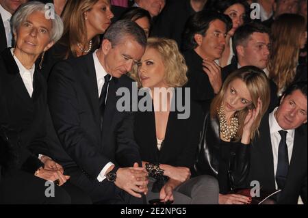
[[[62,143],[62,148],[51,148],[53,158],[94,203],[139,204],[140,193],[147,191],[146,173],[138,167],[133,113],[116,107],[118,88],[131,91],[125,73],[139,62],[145,46],[141,27],[118,21],[104,34],[99,50],[60,62],[51,72],[49,108]]]

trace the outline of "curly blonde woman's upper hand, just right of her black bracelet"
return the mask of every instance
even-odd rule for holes
[[[190,178],[190,169],[187,167],[173,167],[171,165],[160,165],[162,169],[164,169],[164,176],[168,176],[174,180],[178,180],[179,182],[185,182]]]

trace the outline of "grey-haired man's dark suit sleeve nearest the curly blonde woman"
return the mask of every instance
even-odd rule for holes
[[[132,167],[133,163],[138,163],[142,166],[139,147],[133,137],[133,121],[133,113],[127,112],[123,122],[117,129],[116,161],[121,167]]]

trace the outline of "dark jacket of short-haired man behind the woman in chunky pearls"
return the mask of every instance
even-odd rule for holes
[[[236,59],[233,59],[231,64],[222,68],[222,74],[226,75],[226,77],[231,74],[234,70],[238,69],[238,62]],[[270,81],[270,105],[268,107],[269,111],[272,111],[275,107],[277,107],[279,100],[277,97],[277,85],[269,79]]]

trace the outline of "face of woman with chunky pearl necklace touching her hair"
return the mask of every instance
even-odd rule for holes
[[[234,113],[252,105],[251,94],[242,79],[231,81],[222,99],[224,111]]]

